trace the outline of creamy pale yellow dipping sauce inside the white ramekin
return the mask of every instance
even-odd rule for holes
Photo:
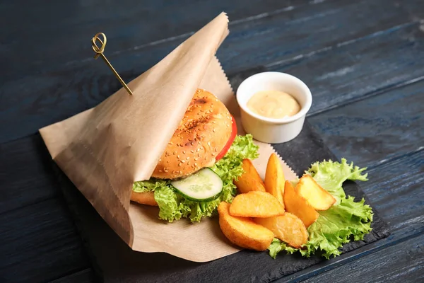
[[[247,108],[257,115],[281,119],[300,111],[300,105],[293,96],[283,91],[258,91],[249,101]]]

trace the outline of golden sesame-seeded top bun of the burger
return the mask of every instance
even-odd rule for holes
[[[230,139],[231,128],[225,105],[212,93],[197,89],[152,177],[179,178],[213,165]]]

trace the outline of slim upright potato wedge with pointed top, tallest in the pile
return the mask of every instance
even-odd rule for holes
[[[276,154],[271,154],[268,164],[266,165],[265,190],[276,197],[283,207],[284,183],[283,166],[281,166],[278,156]]]

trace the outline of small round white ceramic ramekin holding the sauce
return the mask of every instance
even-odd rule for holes
[[[300,112],[291,117],[274,119],[258,115],[247,108],[247,101],[258,91],[284,91],[298,100]],[[312,105],[310,89],[303,81],[289,74],[267,71],[254,74],[237,88],[237,103],[240,105],[242,125],[254,139],[270,144],[290,141],[298,136],[305,122],[306,113]]]

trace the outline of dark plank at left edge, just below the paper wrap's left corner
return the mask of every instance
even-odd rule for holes
[[[60,194],[40,134],[0,144],[0,214]]]

